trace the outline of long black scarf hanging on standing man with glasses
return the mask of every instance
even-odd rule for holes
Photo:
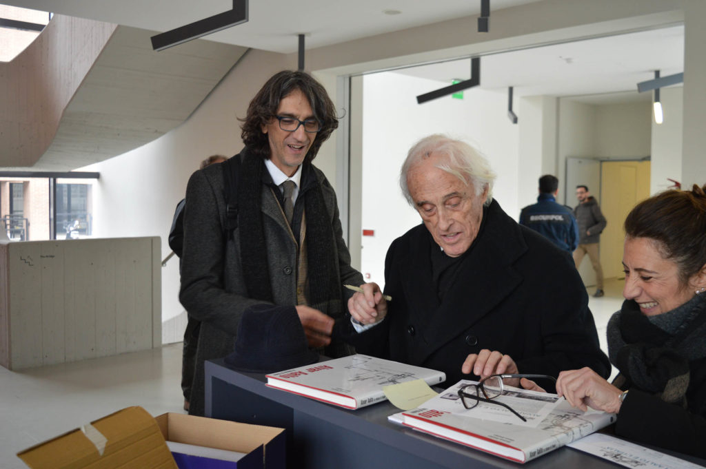
[[[325,303],[337,300],[339,304],[341,300],[337,249],[321,183],[311,168],[307,171],[308,181],[304,183],[305,169],[307,168],[302,169],[303,184],[297,200],[304,197],[306,212],[308,300],[312,307],[326,311],[329,308],[323,308]],[[263,159],[244,154],[238,185],[240,257],[248,296],[272,302],[274,299],[268,269],[268,246],[261,212],[263,171],[267,171]],[[294,270],[296,271],[296,268]]]

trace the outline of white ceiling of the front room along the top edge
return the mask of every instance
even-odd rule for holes
[[[492,11],[539,0],[492,0]],[[1,0],[62,15],[168,31],[232,8],[232,0]],[[208,36],[218,42],[281,53],[323,47],[383,32],[480,14],[480,0],[250,0],[249,21]],[[399,11],[386,14],[385,11]]]

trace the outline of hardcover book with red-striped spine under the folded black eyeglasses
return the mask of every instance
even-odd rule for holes
[[[460,382],[429,399],[424,406],[402,413],[404,425],[525,463],[554,449],[585,437],[615,422],[616,415],[572,408],[556,394],[510,388],[493,401],[501,401],[522,417],[523,422],[503,406],[480,402],[467,409],[459,389],[473,381]]]

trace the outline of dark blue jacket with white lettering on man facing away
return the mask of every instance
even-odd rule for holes
[[[573,252],[578,246],[578,224],[567,207],[556,203],[553,194],[540,193],[537,203],[520,212],[520,224],[537,231],[558,248]]]

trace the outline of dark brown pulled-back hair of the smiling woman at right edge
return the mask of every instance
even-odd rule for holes
[[[662,256],[676,262],[683,286],[706,264],[705,191],[696,184],[666,190],[635,205],[625,219],[626,236],[657,241]]]

